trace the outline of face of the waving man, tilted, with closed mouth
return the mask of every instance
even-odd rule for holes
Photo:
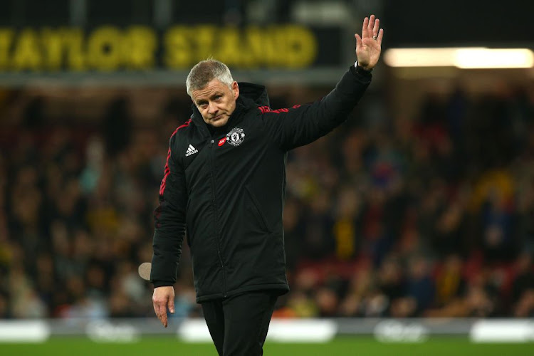
[[[214,127],[221,127],[226,125],[230,115],[236,109],[239,86],[234,81],[229,88],[228,85],[214,79],[204,88],[193,90],[191,96],[204,122]]]

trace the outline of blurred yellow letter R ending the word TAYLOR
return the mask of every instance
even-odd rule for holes
[[[157,38],[147,26],[132,26],[125,33],[123,55],[130,69],[150,69],[155,63]]]

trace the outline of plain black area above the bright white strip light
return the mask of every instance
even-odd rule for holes
[[[534,48],[534,0],[386,0],[387,46]]]

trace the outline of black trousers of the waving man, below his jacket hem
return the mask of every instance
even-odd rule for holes
[[[278,294],[261,290],[202,303],[220,356],[260,356]]]

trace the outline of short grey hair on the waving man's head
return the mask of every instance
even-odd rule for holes
[[[204,88],[211,80],[217,79],[231,88],[234,78],[226,64],[216,59],[206,59],[197,63],[187,75],[185,85],[187,94],[191,96],[193,90]]]

